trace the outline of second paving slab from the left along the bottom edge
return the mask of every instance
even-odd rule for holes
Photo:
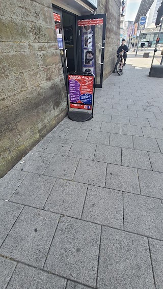
[[[9,289],[65,289],[66,279],[18,264],[8,285]]]

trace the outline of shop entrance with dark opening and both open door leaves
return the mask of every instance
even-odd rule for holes
[[[76,16],[53,7],[53,16],[65,81],[68,72],[91,72],[101,88],[106,15]]]

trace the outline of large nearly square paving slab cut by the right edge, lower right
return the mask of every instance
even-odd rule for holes
[[[124,193],[123,206],[125,230],[163,240],[161,200]]]

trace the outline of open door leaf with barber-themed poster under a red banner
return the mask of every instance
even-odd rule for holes
[[[96,87],[102,88],[106,31],[106,14],[77,17],[79,70],[96,77]]]

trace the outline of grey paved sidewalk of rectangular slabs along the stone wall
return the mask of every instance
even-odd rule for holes
[[[163,288],[163,83],[126,66],[0,183],[7,289]]]

